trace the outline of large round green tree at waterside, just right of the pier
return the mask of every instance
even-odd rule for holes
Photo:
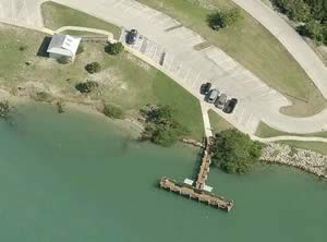
[[[213,165],[229,173],[246,173],[262,155],[262,145],[235,129],[217,134],[213,146]]]

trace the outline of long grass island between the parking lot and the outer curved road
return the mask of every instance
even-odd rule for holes
[[[326,107],[326,100],[287,49],[264,26],[246,12],[244,20],[219,32],[208,27],[206,19],[214,9],[231,9],[230,0],[140,0],[177,19],[208,43],[221,48],[244,68],[276,88],[293,106],[283,108],[286,114],[312,116]]]

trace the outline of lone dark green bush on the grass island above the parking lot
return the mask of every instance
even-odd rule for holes
[[[208,15],[208,23],[213,29],[218,31],[233,25],[242,19],[242,11],[239,8],[234,8],[229,11],[217,11],[216,13]]]

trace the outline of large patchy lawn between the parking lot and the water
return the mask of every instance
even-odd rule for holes
[[[0,87],[13,93],[46,92],[57,98],[77,102],[104,101],[122,108],[129,118],[147,104],[171,105],[179,120],[194,138],[203,136],[198,100],[171,78],[134,56],[117,57],[104,51],[102,44],[83,43],[84,52],[72,64],[60,64],[36,56],[45,35],[38,32],[0,25]],[[88,74],[84,66],[97,61],[102,69]],[[28,64],[26,64],[28,62]],[[96,81],[100,88],[82,95],[75,85]]]

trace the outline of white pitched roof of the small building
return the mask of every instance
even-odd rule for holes
[[[55,34],[51,38],[47,52],[73,57],[80,46],[81,38],[71,35]]]

